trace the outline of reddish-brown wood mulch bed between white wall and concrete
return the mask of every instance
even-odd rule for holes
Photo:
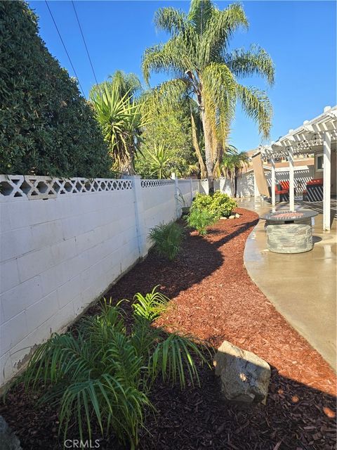
[[[218,221],[204,238],[187,233],[173,263],[150,252],[107,296],[131,300],[159,284],[173,307],[157,326],[192,334],[213,347],[230,340],[261,356],[272,367],[267,404],[250,409],[228,404],[206,367],[201,368],[201,387],[182,392],[157,383],[151,397],[157,416],[147,417],[140,449],[335,449],[336,375],[249,278],[244,245],[258,216],[237,211],[239,219]],[[92,307],[88,314],[95,311]],[[62,448],[55,411],[34,409],[34,399],[22,387],[10,392],[0,413],[24,450]],[[119,448],[113,437],[101,441],[100,449]]]

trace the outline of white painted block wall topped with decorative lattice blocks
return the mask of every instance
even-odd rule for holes
[[[0,176],[0,385],[150,248],[199,181]],[[188,187],[188,189],[187,189]]]

